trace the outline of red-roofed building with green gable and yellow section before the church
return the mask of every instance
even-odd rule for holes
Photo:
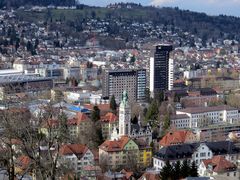
[[[149,167],[152,148],[144,141],[122,136],[117,140],[106,140],[99,146],[99,163],[110,169],[121,167]]]

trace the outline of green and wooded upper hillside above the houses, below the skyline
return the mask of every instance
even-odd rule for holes
[[[88,19],[108,20],[115,23],[115,20],[124,23],[149,22],[153,25],[164,26],[172,31],[176,27],[187,31],[206,40],[212,38],[228,38],[240,40],[240,18],[233,16],[208,16],[205,13],[180,10],[178,8],[156,8],[136,5],[131,9],[127,8],[104,8],[78,6],[75,10],[52,9],[43,12],[18,11],[21,20],[26,21],[61,21],[66,26],[81,26]],[[121,27],[118,27],[121,30]],[[117,32],[116,31],[116,35]]]

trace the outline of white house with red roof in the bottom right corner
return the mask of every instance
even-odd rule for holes
[[[240,175],[237,166],[220,155],[203,160],[198,168],[198,173],[200,176],[216,179],[225,177],[232,180],[238,180]]]

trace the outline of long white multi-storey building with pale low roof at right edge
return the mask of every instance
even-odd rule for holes
[[[230,106],[193,107],[176,111],[171,123],[176,128],[198,128],[219,123],[239,122],[238,109]]]

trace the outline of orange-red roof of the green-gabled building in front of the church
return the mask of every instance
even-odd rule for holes
[[[130,139],[127,136],[122,136],[120,139],[113,141],[106,140],[99,146],[99,148],[107,152],[122,151],[129,140]]]

